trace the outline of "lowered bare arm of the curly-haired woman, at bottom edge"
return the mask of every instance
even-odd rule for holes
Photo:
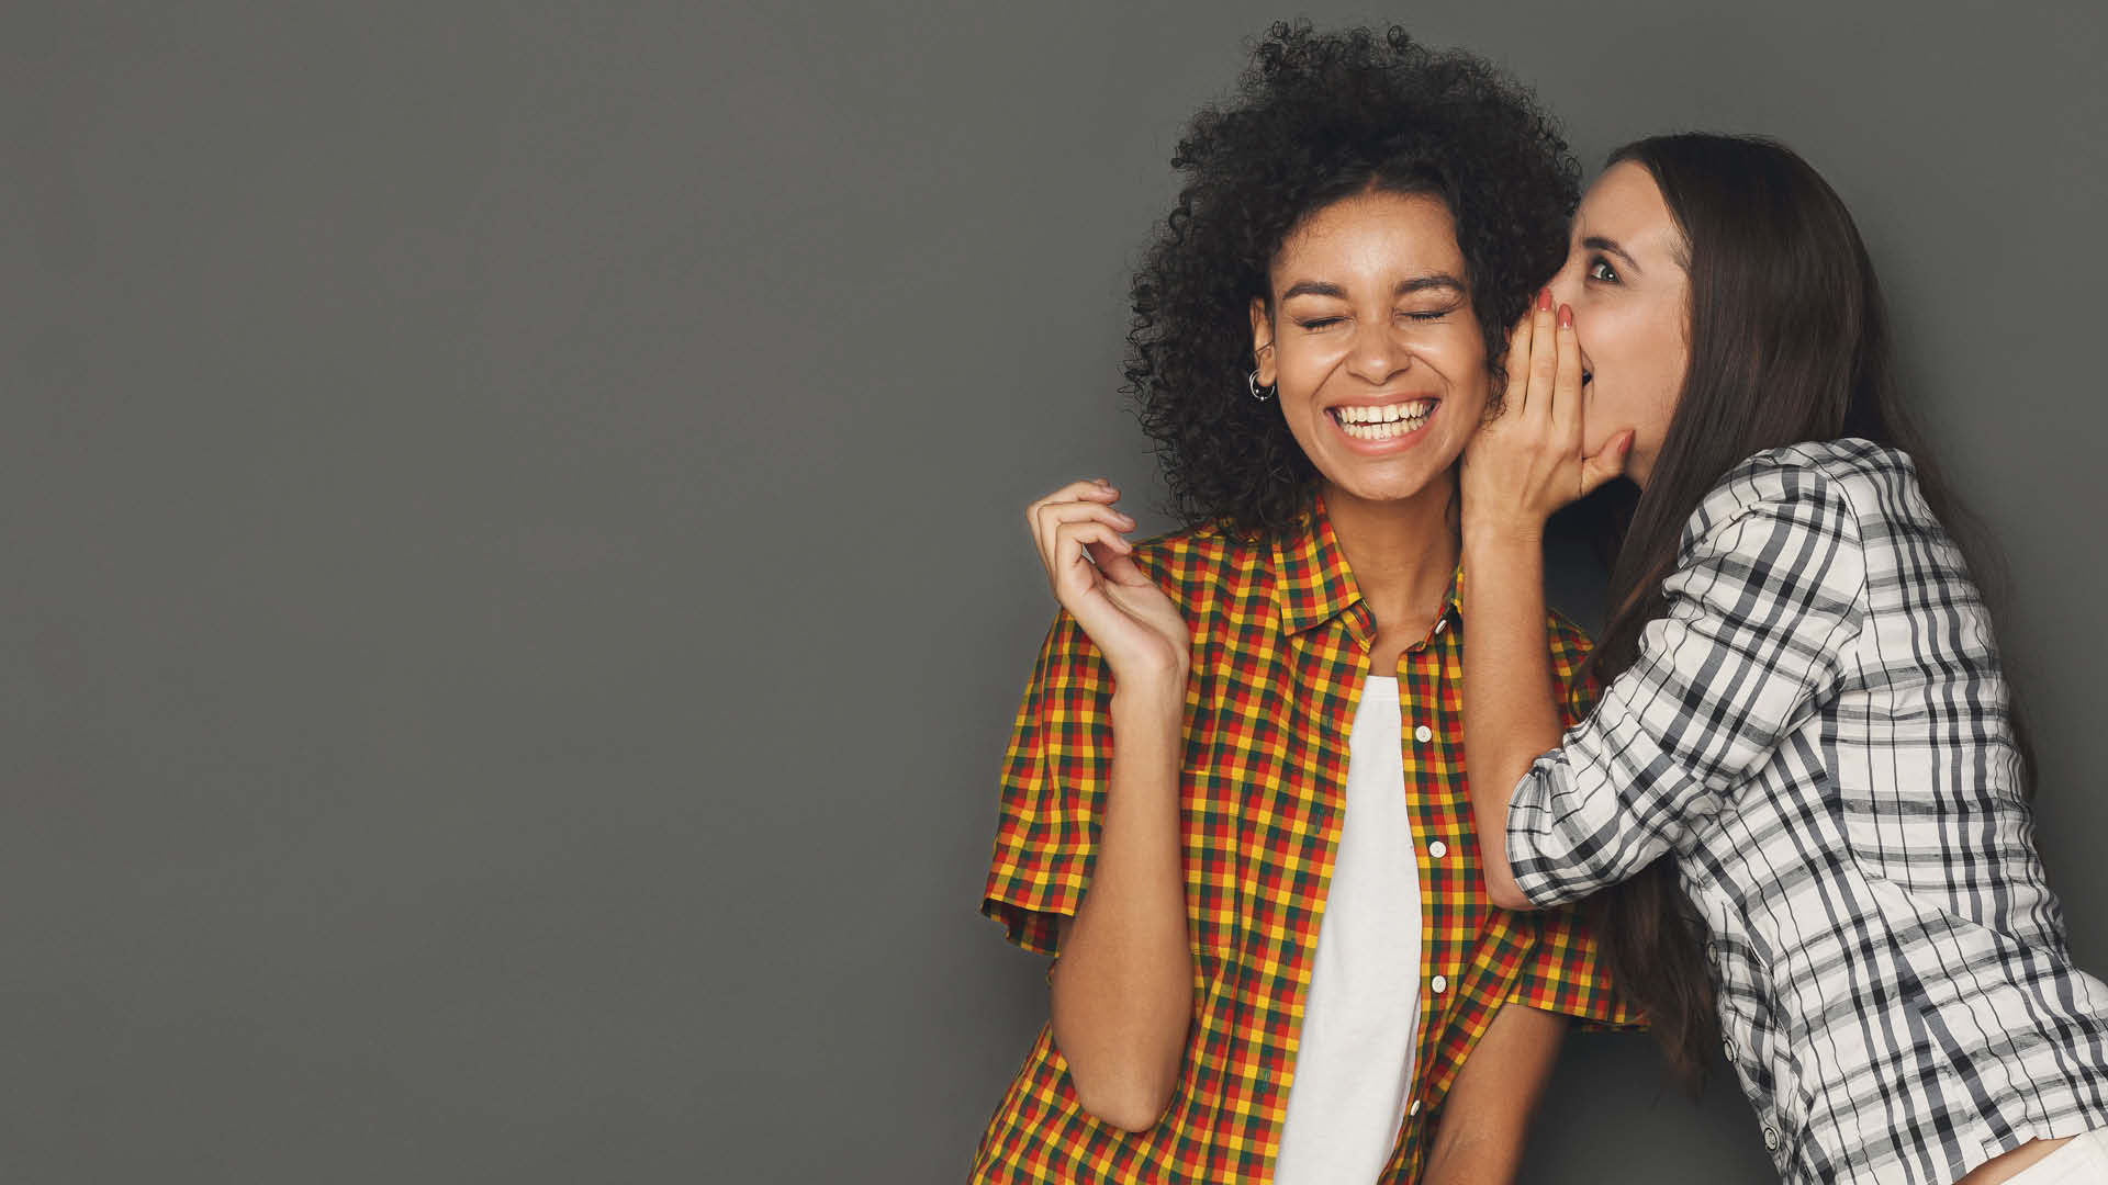
[[[1558,1061],[1566,1018],[1507,1004],[1471,1048],[1442,1105],[1423,1185],[1514,1181],[1530,1113]]]

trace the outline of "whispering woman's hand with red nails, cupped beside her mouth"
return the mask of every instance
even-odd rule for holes
[[[1581,344],[1573,310],[1537,297],[1507,339],[1507,401],[1463,455],[1465,529],[1543,531],[1545,519],[1625,472],[1632,432],[1583,455]],[[1476,523],[1473,523],[1476,521]]]

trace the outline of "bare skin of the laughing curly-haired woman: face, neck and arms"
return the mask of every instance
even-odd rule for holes
[[[1370,671],[1391,675],[1433,628],[1457,567],[1457,460],[1490,394],[1448,209],[1366,192],[1307,217],[1252,302],[1258,382],[1320,474],[1334,533],[1377,618]],[[1339,407],[1433,399],[1391,441],[1355,441]],[[1132,561],[1134,521],[1105,481],[1071,483],[1027,512],[1054,597],[1113,673],[1113,784],[1098,862],[1060,926],[1054,1044],[1084,1107],[1143,1130],[1170,1105],[1193,1018],[1193,955],[1178,829],[1178,757],[1191,635]],[[1543,622],[1543,618],[1539,618]],[[1537,649],[1543,652],[1539,624]],[[1539,654],[1543,660],[1543,654]],[[1503,1008],[1450,1088],[1423,1181],[1511,1181],[1528,1113],[1566,1021]]]

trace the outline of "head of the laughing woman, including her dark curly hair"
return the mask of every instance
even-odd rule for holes
[[[1280,533],[1320,487],[1446,498],[1562,255],[1577,167],[1551,120],[1400,30],[1275,25],[1172,164],[1126,373],[1180,517]]]

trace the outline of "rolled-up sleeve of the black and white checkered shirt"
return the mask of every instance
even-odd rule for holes
[[[1537,905],[1613,886],[1682,843],[1842,681],[1866,614],[1844,493],[1804,466],[1731,491],[1686,531],[1634,664],[1516,786],[1507,856]]]

